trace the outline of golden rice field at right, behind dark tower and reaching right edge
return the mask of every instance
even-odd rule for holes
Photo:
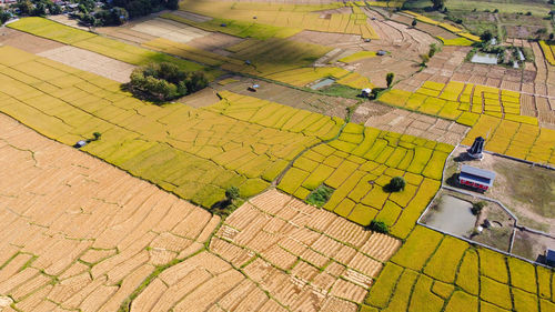
[[[555,162],[555,132],[521,114],[521,93],[473,83],[426,81],[416,90],[391,90],[380,101],[473,127],[463,140],[482,135],[485,149],[538,163]]]

